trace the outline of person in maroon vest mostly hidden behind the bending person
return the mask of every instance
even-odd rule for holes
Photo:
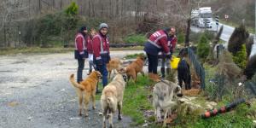
[[[174,50],[175,50],[175,46],[177,44],[177,37],[176,37],[176,29],[174,27],[171,27],[171,32],[170,35],[168,36],[168,47],[170,49],[171,55],[173,54]],[[166,58],[165,53],[161,53],[161,73],[162,73],[162,78],[166,77],[166,74],[170,74],[171,73],[171,65],[170,65],[170,61],[171,59]]]

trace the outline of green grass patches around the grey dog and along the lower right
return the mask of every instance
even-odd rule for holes
[[[205,65],[206,72],[206,84],[210,84],[209,79],[212,78],[216,71],[216,67],[210,67]],[[145,110],[153,110],[152,104],[148,100],[148,96],[152,94],[149,90],[150,86],[154,84],[148,79],[148,77],[138,76],[137,83],[130,81],[125,87],[125,96],[123,102],[122,112],[126,116],[130,116],[133,120],[131,127],[142,126],[144,121],[148,121],[148,127],[159,128],[160,124],[154,124],[154,116],[144,117]],[[100,90],[102,90],[102,84],[99,84]],[[212,89],[213,90],[213,89]],[[206,91],[211,91],[207,89]],[[96,99],[100,99],[100,95],[96,96]],[[218,102],[218,108],[222,107],[234,99],[231,96],[226,95],[221,102]],[[198,96],[198,102],[204,104],[206,102],[205,96]],[[209,119],[201,119],[199,113],[193,114],[178,114],[177,119],[172,122],[172,127],[181,128],[240,128],[240,127],[253,127],[253,119],[248,119],[248,113],[256,113],[256,99],[254,100],[252,107],[248,108],[246,104],[242,103],[238,105],[233,111],[227,113],[218,114],[215,117]],[[255,117],[256,118],[256,117]]]

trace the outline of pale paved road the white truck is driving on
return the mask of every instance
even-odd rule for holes
[[[228,45],[227,42],[230,40],[230,36],[234,32],[235,28],[233,26],[227,26],[227,25],[219,23],[218,30],[219,30],[220,26],[224,26],[224,29],[223,29],[223,32],[222,32],[220,38],[226,42],[226,44],[224,44],[224,46],[227,47],[227,45]],[[193,32],[201,32],[202,30],[203,29],[198,28],[196,26],[191,26],[191,31],[193,31]],[[216,23],[213,22],[212,28],[208,28],[208,30],[216,31],[217,30]],[[256,37],[253,34],[251,34],[251,35],[254,36],[254,44],[253,44],[252,53],[251,53],[251,56],[252,56],[252,55],[256,55]]]

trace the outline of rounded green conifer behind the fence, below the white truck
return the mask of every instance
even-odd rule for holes
[[[202,61],[207,59],[210,52],[210,44],[205,34],[201,35],[200,41],[197,45],[197,55]]]

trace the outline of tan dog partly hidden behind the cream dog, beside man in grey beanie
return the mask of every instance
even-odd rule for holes
[[[107,70],[108,70],[108,79],[110,79],[110,75],[112,73],[112,71],[115,70],[119,70],[121,68],[121,64],[122,62],[120,61],[119,58],[113,58],[111,59],[108,64],[107,64]]]

